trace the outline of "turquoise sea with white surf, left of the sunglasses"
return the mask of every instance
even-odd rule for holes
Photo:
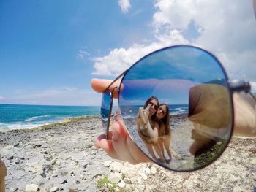
[[[65,118],[99,115],[98,106],[0,104],[0,129],[33,128]]]

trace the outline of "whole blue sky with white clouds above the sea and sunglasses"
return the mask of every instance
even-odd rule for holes
[[[1,0],[0,104],[99,105],[91,78],[170,45],[210,51],[256,90],[252,0]]]

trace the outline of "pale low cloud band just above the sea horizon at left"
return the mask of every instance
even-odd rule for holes
[[[18,91],[2,98],[4,104],[99,105],[101,95],[92,90],[57,88],[40,91]]]

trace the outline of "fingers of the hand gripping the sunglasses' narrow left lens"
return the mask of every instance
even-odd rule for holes
[[[91,80],[91,87],[94,91],[102,93],[110,85],[111,80]],[[115,82],[110,86],[110,90],[117,87],[120,84],[120,81]],[[113,95],[117,98],[117,93]],[[109,133],[109,139],[106,139],[105,134],[101,134],[97,137],[97,140],[94,143],[97,149],[101,148],[105,150],[106,153],[111,158],[115,158],[121,161],[128,161],[131,164],[138,164],[141,162],[151,162],[150,159],[146,157],[132,142],[132,139],[127,134],[127,130],[124,126],[124,123],[121,120],[116,120],[111,126],[111,131]]]

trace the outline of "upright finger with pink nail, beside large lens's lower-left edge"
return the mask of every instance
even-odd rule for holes
[[[113,123],[112,133],[113,148],[115,149],[121,160],[128,161],[131,164],[138,164],[138,161],[135,161],[135,159],[129,153],[126,143],[127,131],[125,130],[124,125],[123,123],[121,123],[121,121],[116,121],[115,123]]]

